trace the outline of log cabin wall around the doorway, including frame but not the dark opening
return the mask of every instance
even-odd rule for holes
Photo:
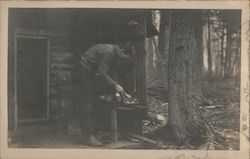
[[[73,51],[69,44],[69,34],[65,32],[36,30],[12,27],[9,31],[8,54],[8,114],[9,129],[16,129],[19,120],[17,114],[18,103],[15,97],[15,38],[44,38],[48,44],[48,108],[44,119],[57,119],[65,115],[65,110],[72,105],[71,70],[73,68]],[[67,92],[67,93],[66,93]],[[32,92],[30,92],[32,93]],[[34,92],[33,92],[34,93]],[[15,108],[17,107],[17,108]],[[17,110],[16,110],[17,109]],[[30,120],[30,119],[29,119]]]

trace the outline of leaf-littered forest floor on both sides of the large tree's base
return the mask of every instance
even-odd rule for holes
[[[239,149],[239,129],[240,129],[240,89],[230,83],[231,80],[217,80],[203,82],[202,91],[204,102],[199,109],[207,117],[208,121],[214,126],[216,132],[219,132],[225,137],[224,146],[220,149],[238,150]],[[152,100],[152,110],[155,108],[154,102],[159,100]],[[167,104],[161,103],[162,108],[157,108],[156,111],[161,114],[167,114]],[[159,111],[160,110],[160,111]],[[161,112],[161,110],[163,112]],[[164,112],[166,111],[166,112]],[[168,115],[166,115],[167,117]],[[159,126],[146,127],[147,131],[150,129],[157,129]],[[165,130],[164,130],[165,129]],[[164,141],[164,145],[168,145],[169,149],[186,149],[183,145],[178,145],[171,133],[165,133],[170,130],[163,128],[163,130],[156,130],[156,132],[149,133],[151,138],[159,141]],[[199,147],[202,149],[202,147]]]

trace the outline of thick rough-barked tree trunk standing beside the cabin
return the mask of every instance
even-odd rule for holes
[[[172,13],[169,52],[169,123],[179,141],[202,141],[207,123],[200,112],[201,11]]]

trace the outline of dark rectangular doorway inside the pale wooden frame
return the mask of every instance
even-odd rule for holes
[[[47,112],[47,39],[17,38],[17,116],[41,119]]]

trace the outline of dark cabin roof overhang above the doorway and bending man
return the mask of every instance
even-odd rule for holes
[[[88,33],[94,41],[132,41],[158,34],[151,10],[145,9],[13,8],[10,16],[20,28],[67,31],[73,36]],[[144,29],[146,35],[138,29]]]

